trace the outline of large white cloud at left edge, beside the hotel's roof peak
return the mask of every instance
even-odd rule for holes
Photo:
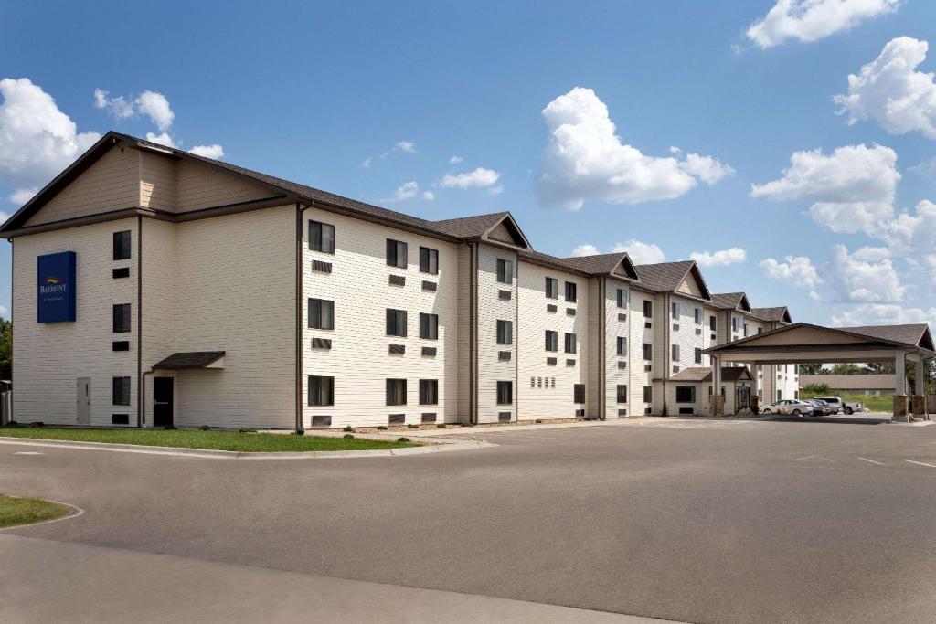
[[[0,183],[46,183],[101,136],[79,132],[55,100],[28,78],[0,80]]]

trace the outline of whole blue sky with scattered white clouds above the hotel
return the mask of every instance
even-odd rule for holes
[[[0,210],[81,133],[152,133],[426,218],[511,210],[549,254],[723,252],[713,292],[796,320],[936,321],[936,4],[832,4],[4,3]]]

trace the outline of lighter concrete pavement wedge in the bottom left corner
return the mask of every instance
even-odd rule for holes
[[[661,622],[0,533],[4,622]]]

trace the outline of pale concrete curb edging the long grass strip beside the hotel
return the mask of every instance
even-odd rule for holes
[[[200,448],[178,448],[175,446],[142,446],[137,444],[111,444],[97,442],[71,442],[44,440],[40,438],[3,438],[0,444],[19,444],[46,448],[72,448],[85,451],[110,451],[111,453],[139,453],[141,455],[168,455],[173,457],[202,457],[212,459],[344,459],[353,457],[407,457],[427,453],[448,451],[470,451],[497,444],[480,440],[464,440],[457,443],[410,446],[373,451],[301,451],[283,453],[241,453],[240,451],[213,451]],[[66,504],[66,503],[62,503]]]

